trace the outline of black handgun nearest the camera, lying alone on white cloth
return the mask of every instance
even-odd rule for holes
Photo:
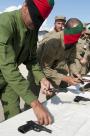
[[[21,132],[21,133],[26,133],[30,130],[34,130],[34,131],[37,131],[37,132],[46,131],[48,133],[52,133],[52,130],[50,130],[50,129],[42,126],[42,125],[39,125],[32,120],[28,121],[25,125],[22,125],[18,128],[18,131]]]

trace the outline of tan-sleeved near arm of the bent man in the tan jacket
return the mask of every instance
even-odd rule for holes
[[[63,74],[58,73],[57,70],[52,68],[53,63],[56,60],[56,52],[58,49],[60,49],[59,40],[60,39],[57,38],[52,39],[52,37],[46,41],[43,40],[44,42],[41,41],[41,44],[39,44],[39,48],[37,50],[39,63],[45,76],[54,81],[57,85],[60,84],[62,78],[64,77]]]

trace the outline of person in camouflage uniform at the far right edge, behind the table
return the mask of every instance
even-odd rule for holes
[[[83,31],[81,37],[76,44],[76,58],[75,63],[70,67],[70,73],[76,73],[78,76],[87,74],[89,67],[89,54],[90,54],[90,31]],[[77,67],[77,69],[76,69]]]

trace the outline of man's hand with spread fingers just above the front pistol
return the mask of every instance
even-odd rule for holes
[[[31,103],[31,107],[38,119],[38,123],[41,125],[48,125],[52,123],[52,117],[45,107],[38,101],[35,100]]]

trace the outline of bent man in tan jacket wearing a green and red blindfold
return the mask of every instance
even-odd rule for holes
[[[75,85],[77,78],[66,76],[68,71],[64,66],[74,63],[76,56],[75,44],[83,30],[83,25],[77,18],[71,18],[66,23],[64,31],[55,32],[47,39],[43,39],[37,50],[42,70],[53,86],[58,87],[61,81]],[[61,65],[60,65],[61,63]],[[58,65],[59,64],[59,65]]]

